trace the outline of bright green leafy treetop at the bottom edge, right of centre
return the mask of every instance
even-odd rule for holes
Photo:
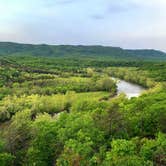
[[[111,151],[106,153],[103,165],[110,166],[152,166],[152,162],[137,156],[136,144],[130,140],[115,139]]]

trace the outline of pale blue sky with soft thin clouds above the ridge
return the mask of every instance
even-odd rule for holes
[[[0,0],[0,41],[166,51],[166,0]]]

